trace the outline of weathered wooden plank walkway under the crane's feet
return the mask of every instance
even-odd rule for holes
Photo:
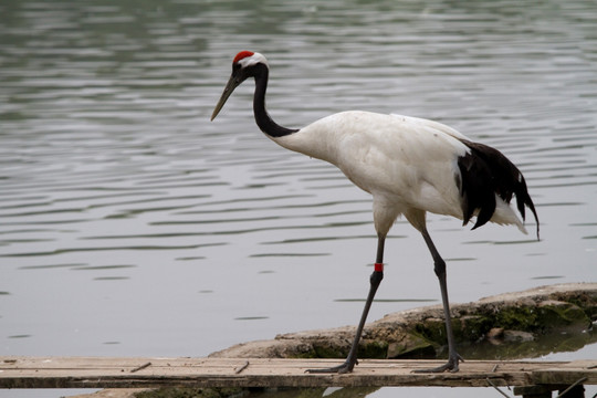
[[[0,388],[489,387],[488,379],[495,386],[544,380],[562,385],[580,375],[587,377],[585,384],[597,384],[597,362],[468,360],[455,374],[415,374],[441,362],[364,359],[347,375],[305,373],[337,364],[336,359],[0,357]]]

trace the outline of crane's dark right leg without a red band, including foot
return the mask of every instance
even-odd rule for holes
[[[446,316],[446,333],[448,335],[448,363],[437,368],[415,370],[415,373],[442,373],[446,370],[458,371],[458,363],[464,362],[455,350],[454,332],[452,331],[452,318],[450,316],[450,303],[448,302],[448,284],[446,282],[446,261],[441,258],[429,232],[423,228],[421,231],[425,242],[433,256],[434,271],[438,275],[441,290],[441,303],[443,304],[443,314]]]

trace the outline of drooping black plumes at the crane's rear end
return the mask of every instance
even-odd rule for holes
[[[483,226],[495,211],[495,195],[506,203],[510,203],[512,196],[515,195],[516,208],[522,219],[525,218],[525,206],[533,212],[538,239],[537,212],[528,196],[522,172],[498,149],[465,139],[462,139],[462,143],[470,148],[469,154],[458,159],[464,224],[479,210],[473,229]]]

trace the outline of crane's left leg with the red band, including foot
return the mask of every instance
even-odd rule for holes
[[[350,352],[348,353],[348,356],[346,357],[346,360],[344,362],[344,364],[338,365],[338,366],[334,366],[331,368],[323,368],[323,369],[307,369],[306,373],[345,374],[345,373],[353,371],[353,368],[357,364],[358,343],[360,342],[360,336],[363,335],[363,328],[365,327],[365,322],[367,321],[367,315],[369,314],[369,308],[371,307],[371,303],[375,297],[375,293],[377,292],[377,287],[379,287],[379,284],[381,283],[381,280],[384,279],[384,244],[385,242],[386,242],[385,235],[378,237],[375,270],[371,273],[371,276],[369,277],[369,282],[370,282],[369,294],[367,295],[367,301],[365,302],[365,308],[363,308],[363,314],[360,315],[360,322],[358,323],[358,327],[355,334],[355,339],[353,341],[353,345],[350,347]]]

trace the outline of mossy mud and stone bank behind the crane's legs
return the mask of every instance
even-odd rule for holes
[[[516,359],[576,350],[597,341],[597,283],[567,283],[452,304],[459,352],[469,359]],[[343,358],[355,327],[289,333],[234,345],[211,357]],[[386,315],[367,324],[360,358],[442,357],[441,305]]]

